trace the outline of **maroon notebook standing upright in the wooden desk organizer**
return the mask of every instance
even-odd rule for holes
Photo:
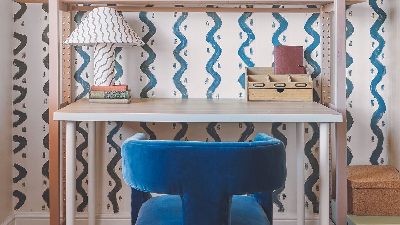
[[[303,46],[274,46],[275,74],[304,74]]]

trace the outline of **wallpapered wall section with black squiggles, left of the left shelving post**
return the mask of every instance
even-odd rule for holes
[[[47,5],[14,2],[14,210],[48,207]]]

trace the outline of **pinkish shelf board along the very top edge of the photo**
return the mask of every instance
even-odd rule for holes
[[[48,0],[14,0],[21,3],[48,3]],[[334,0],[60,0],[66,4],[120,4],[120,5],[326,5]],[[366,0],[349,0],[346,4],[356,4]]]

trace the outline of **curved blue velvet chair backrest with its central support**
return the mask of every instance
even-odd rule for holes
[[[284,144],[266,134],[254,142],[197,142],[139,133],[122,143],[122,164],[134,189],[182,196],[182,224],[230,224],[232,195],[269,192],[286,180]]]

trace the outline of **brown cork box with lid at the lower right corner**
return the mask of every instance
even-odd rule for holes
[[[348,166],[347,193],[353,215],[400,216],[400,172],[391,166]]]

